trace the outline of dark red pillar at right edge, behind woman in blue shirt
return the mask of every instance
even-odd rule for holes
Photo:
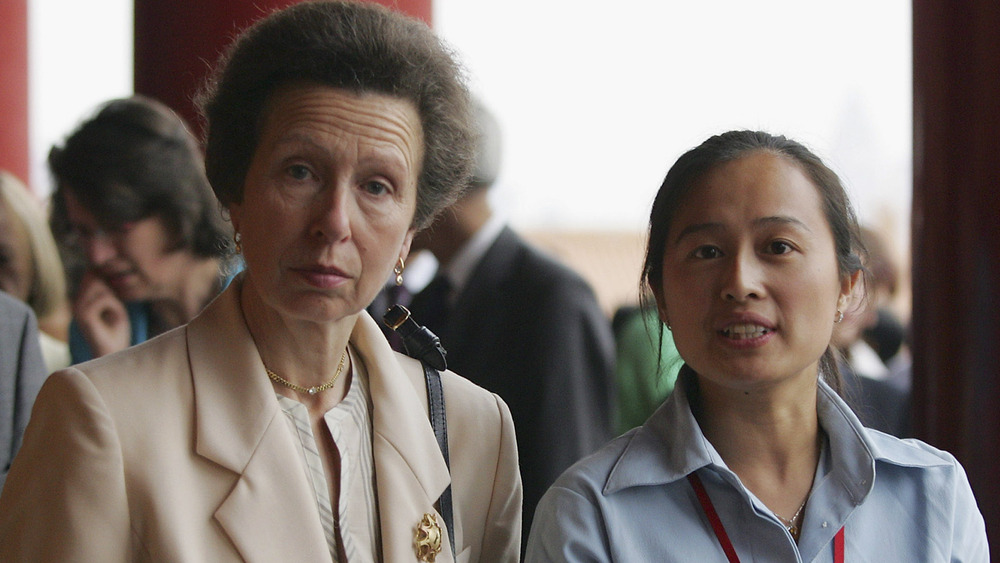
[[[913,382],[1000,549],[1000,3],[913,2]]]

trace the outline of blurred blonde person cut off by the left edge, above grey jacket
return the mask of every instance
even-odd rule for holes
[[[48,373],[70,365],[66,272],[40,203],[0,171],[0,290],[31,307]]]

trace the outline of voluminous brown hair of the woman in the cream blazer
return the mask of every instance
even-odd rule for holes
[[[466,187],[475,148],[464,75],[422,22],[362,2],[304,2],[258,21],[229,47],[197,97],[208,178],[242,201],[267,102],[293,83],[376,92],[414,104],[424,156],[413,226],[430,224]]]

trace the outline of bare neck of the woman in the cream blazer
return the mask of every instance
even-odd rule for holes
[[[347,351],[357,314],[331,323],[294,319],[267,305],[257,291],[252,277],[247,275],[240,288],[240,304],[264,367],[306,389],[331,381]],[[274,383],[275,390],[306,404],[310,410],[326,412],[347,394],[351,370],[348,354],[342,373],[328,390],[310,395]]]

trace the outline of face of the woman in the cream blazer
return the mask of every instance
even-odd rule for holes
[[[365,308],[409,251],[422,147],[408,101],[319,85],[277,91],[243,201],[230,206],[246,286],[304,321]]]

